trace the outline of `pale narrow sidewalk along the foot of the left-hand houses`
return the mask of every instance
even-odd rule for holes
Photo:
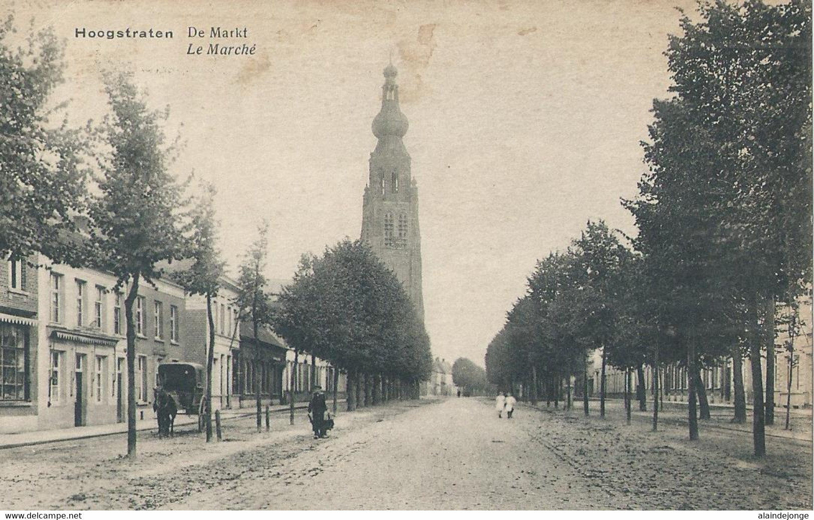
[[[337,404],[344,404],[345,400],[338,400]],[[294,404],[294,409],[307,409],[308,403],[300,402]],[[328,404],[330,409],[330,403]],[[272,413],[284,413],[291,409],[289,404],[275,404],[269,407]],[[265,413],[265,407],[264,411]],[[256,409],[221,409],[221,418],[224,421],[239,419],[242,417],[254,417]],[[213,416],[214,417],[214,416]],[[214,421],[214,419],[213,419]],[[175,418],[175,427],[198,425],[197,415],[186,415],[179,413]],[[155,420],[145,419],[136,422],[137,431],[158,430]],[[57,443],[63,440],[90,439],[93,437],[105,437],[107,435],[120,435],[127,433],[127,423],[117,422],[116,424],[100,424],[96,426],[74,426],[72,428],[60,428],[58,430],[37,430],[23,431],[13,434],[0,434],[0,450],[7,448],[18,448],[20,446],[33,446],[36,444]]]

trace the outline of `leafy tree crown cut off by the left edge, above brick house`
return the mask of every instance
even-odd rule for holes
[[[0,258],[34,252],[79,264],[73,217],[83,209],[88,170],[85,133],[63,120],[51,99],[63,81],[63,46],[44,28],[27,45],[11,41],[14,19],[0,23]]]

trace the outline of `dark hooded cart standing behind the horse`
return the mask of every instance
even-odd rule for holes
[[[198,416],[198,428],[203,429],[207,412],[206,369],[198,363],[173,361],[158,365],[158,392],[172,400],[178,412]]]

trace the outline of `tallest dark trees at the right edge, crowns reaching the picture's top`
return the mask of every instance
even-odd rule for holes
[[[671,38],[676,97],[654,103],[651,169],[632,211],[641,244],[680,260],[667,270],[683,272],[672,277],[674,316],[691,381],[698,331],[737,324],[751,361],[755,454],[763,455],[761,352],[769,346],[773,410],[775,301],[794,299],[811,279],[811,4],[719,1],[698,15],[682,18],[682,34]],[[708,304],[729,319],[711,319]],[[733,365],[739,356],[736,348]]]

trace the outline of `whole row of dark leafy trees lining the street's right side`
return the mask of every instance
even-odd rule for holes
[[[700,368],[732,358],[734,419],[744,422],[748,356],[755,454],[765,453],[776,340],[794,347],[797,305],[812,280],[811,14],[807,0],[719,0],[700,4],[698,21],[682,15],[665,53],[674,95],[654,101],[642,143],[649,169],[623,201],[637,237],[627,247],[589,222],[567,251],[540,260],[489,346],[492,382],[542,375],[558,388],[577,374],[587,385],[587,358],[600,349],[604,414],[606,365],[640,380],[643,364],[654,367],[659,395],[658,368],[679,363],[697,439],[698,400],[708,417]]]

